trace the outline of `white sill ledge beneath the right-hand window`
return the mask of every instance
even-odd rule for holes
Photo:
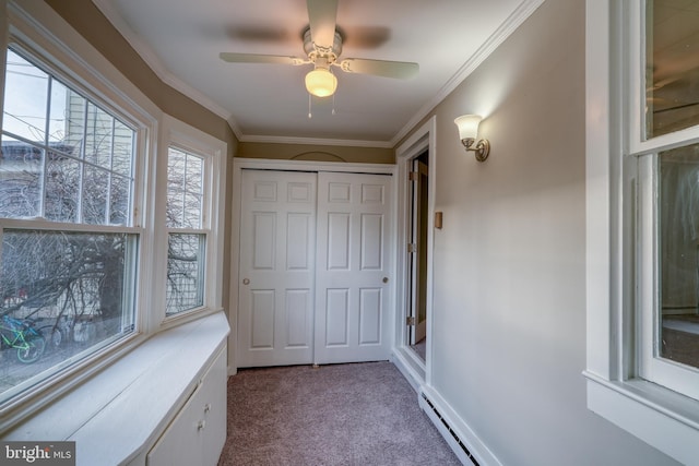
[[[588,408],[686,465],[699,465],[699,402],[650,382],[591,372]]]

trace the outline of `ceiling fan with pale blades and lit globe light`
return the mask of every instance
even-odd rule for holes
[[[402,80],[417,74],[419,65],[413,62],[362,58],[346,58],[340,61],[342,36],[335,31],[337,1],[307,0],[309,26],[304,32],[304,51],[307,58],[235,52],[221,52],[218,57],[232,63],[313,64],[313,70],[306,75],[306,88],[318,97],[331,96],[337,88],[337,79],[331,72],[331,67],[337,67],[347,73]]]

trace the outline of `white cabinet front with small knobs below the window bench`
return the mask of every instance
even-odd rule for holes
[[[147,454],[147,466],[215,466],[226,441],[226,355],[221,351]]]

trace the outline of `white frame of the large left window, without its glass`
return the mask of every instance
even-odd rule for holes
[[[132,191],[133,216],[130,219],[130,224],[123,227],[67,224],[36,218],[28,220],[3,219],[0,228],[17,227],[22,229],[36,228],[85,232],[119,231],[135,234],[139,236],[139,247],[135,253],[137,274],[141,277],[151,276],[151,261],[144,258],[147,256],[146,254],[152,246],[151,231],[153,228],[146,219],[147,208],[144,200],[152,196],[152,186],[147,182],[145,175],[152,171],[149,164],[153,157],[150,157],[147,154],[150,147],[153,146],[156,120],[142,107],[134,105],[129,96],[118,91],[110,81],[102,77],[96,70],[90,68],[73,50],[60,43],[56,37],[49,36],[45,32],[40,34],[40,29],[36,27],[34,20],[26,15],[23,10],[14,7],[14,3],[5,4],[3,2],[0,4],[0,11],[4,12],[7,8],[7,22],[3,21],[3,24],[0,24],[2,32],[7,32],[0,37],[0,47],[2,50],[0,52],[2,58],[0,75],[4,77],[5,51],[8,46],[14,45],[23,55],[26,55],[27,58],[37,60],[42,67],[46,67],[51,74],[59,77],[75,91],[84,93],[91,101],[108,109],[110,113],[135,129],[135,154],[132,174],[134,178]],[[2,108],[4,83],[2,83],[0,91],[2,91],[0,92],[0,108]],[[134,331],[123,337],[115,340],[109,339],[103,345],[95,346],[93,348],[94,351],[86,357],[76,360],[69,358],[56,366],[54,369],[57,369],[57,371],[50,373],[48,378],[44,378],[22,392],[13,394],[13,396],[0,407],[0,417],[2,418],[0,431],[32,414],[46,403],[56,399],[58,395],[66,393],[82,380],[85,380],[145,339],[149,327],[141,310],[149,309],[150,295],[146,292],[149,285],[145,284],[143,279],[137,279],[134,286]],[[71,366],[62,369],[69,362]]]

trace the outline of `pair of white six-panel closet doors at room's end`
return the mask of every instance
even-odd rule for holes
[[[238,367],[388,359],[391,177],[244,170]]]

